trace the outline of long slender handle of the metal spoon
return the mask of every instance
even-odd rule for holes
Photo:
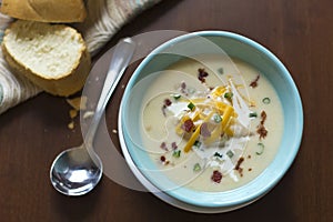
[[[87,148],[91,148],[93,143],[93,138],[98,129],[101,117],[105,110],[109,99],[111,98],[117,84],[119,83],[125,68],[130,63],[132,56],[135,50],[135,42],[131,38],[125,38],[119,41],[115,46],[113,56],[110,62],[109,71],[103,84],[103,89],[95,108],[93,119],[91,120],[89,130],[85,134],[85,142],[88,142]]]

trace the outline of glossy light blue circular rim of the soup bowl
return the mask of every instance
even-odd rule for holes
[[[286,161],[284,162],[284,167],[281,168],[278,172],[274,172],[274,175],[271,175],[269,181],[265,181],[265,184],[261,186],[261,189],[258,190],[252,190],[253,192],[245,192],[242,194],[245,195],[239,195],[236,196],[236,200],[228,200],[228,202],[221,200],[221,201],[214,201],[216,194],[221,194],[222,196],[228,194],[230,195],[230,193],[234,193],[238,192],[239,190],[244,190],[245,188],[250,186],[251,184],[255,183],[258,180],[260,180],[262,178],[262,175],[265,173],[265,171],[268,171],[269,167],[272,164],[270,163],[268,169],[264,170],[260,175],[258,175],[255,179],[253,179],[252,181],[250,181],[249,183],[231,190],[231,191],[223,191],[223,192],[201,192],[201,191],[193,191],[193,190],[189,190],[189,189],[184,189],[184,188],[180,188],[180,189],[173,189],[173,190],[168,190],[168,191],[163,191],[165,192],[168,195],[171,195],[178,200],[181,200],[183,202],[193,204],[193,205],[198,205],[198,206],[204,206],[204,208],[220,208],[220,206],[231,206],[231,205],[240,205],[240,204],[244,204],[248,202],[252,202],[261,196],[263,196],[265,193],[268,193],[271,189],[273,189],[276,183],[283,178],[283,175],[287,172],[287,170],[290,169],[290,167],[292,165],[300,145],[301,145],[301,140],[302,140],[302,134],[303,134],[303,108],[302,108],[302,100],[300,97],[300,93],[297,91],[297,87],[294,83],[290,72],[287,71],[287,69],[284,67],[284,64],[276,58],[276,56],[274,56],[270,50],[268,50],[266,48],[264,48],[263,46],[261,46],[260,43],[234,32],[229,32],[229,31],[198,31],[198,32],[191,32],[191,33],[186,33],[176,38],[173,38],[164,43],[162,43],[161,46],[159,46],[158,48],[155,48],[152,52],[149,53],[149,56],[139,64],[139,67],[135,69],[135,71],[133,72],[132,77],[130,78],[128,85],[124,90],[124,94],[123,94],[123,100],[129,98],[129,91],[130,89],[132,89],[135,83],[138,78],[140,77],[140,73],[142,72],[143,68],[151,62],[154,57],[157,54],[159,54],[160,52],[162,52],[163,50],[168,49],[170,46],[173,46],[174,43],[179,43],[182,41],[185,41],[188,39],[191,39],[193,37],[222,37],[222,38],[229,38],[229,39],[233,39],[236,41],[240,41],[244,44],[250,46],[251,48],[255,49],[256,51],[259,51],[260,53],[264,54],[269,60],[271,60],[278,68],[279,70],[281,70],[281,73],[283,73],[283,78],[286,79],[287,83],[290,84],[290,87],[293,89],[293,94],[294,94],[294,100],[296,101],[296,111],[295,113],[297,114],[297,123],[299,123],[299,128],[297,131],[295,131],[295,140],[294,143],[292,144],[292,150],[290,153],[287,153],[287,155],[285,158]],[[124,103],[122,102],[121,105],[124,105]],[[124,112],[124,108],[122,107],[122,111]],[[122,114],[122,113],[120,113]],[[129,147],[129,145],[127,145]],[[131,148],[127,148],[127,149],[131,149]],[[131,151],[129,150],[129,153],[131,153]],[[133,158],[133,162],[135,164],[138,164],[138,161],[135,160],[135,158]],[[274,161],[274,160],[273,160]],[[142,172],[142,171],[141,171]],[[142,174],[144,176],[147,176],[149,179],[149,176],[142,172]],[[154,185],[157,185],[157,188],[159,188],[159,184],[157,184],[155,181],[151,181]],[[191,191],[191,192],[188,192]],[[196,193],[198,195],[191,195],[191,198],[189,199],[189,194],[193,194]],[[208,201],[204,201],[201,198],[209,198]],[[212,201],[213,200],[213,201]]]

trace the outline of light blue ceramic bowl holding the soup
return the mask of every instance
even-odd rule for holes
[[[216,47],[218,46],[218,47]],[[186,56],[215,53],[223,49],[230,57],[239,58],[271,81],[283,107],[284,132],[279,151],[271,164],[248,184],[225,192],[198,192],[175,188],[160,172],[140,147],[139,119],[142,94],[161,71]],[[151,78],[150,78],[151,77]],[[145,81],[140,81],[145,79]],[[135,87],[139,82],[140,87]],[[286,173],[294,161],[303,132],[303,110],[297,88],[282,62],[268,49],[245,37],[225,31],[201,31],[172,39],[153,50],[138,67],[124,91],[121,121],[128,151],[142,174],[158,189],[188,204],[203,208],[236,208],[249,204],[268,193]]]

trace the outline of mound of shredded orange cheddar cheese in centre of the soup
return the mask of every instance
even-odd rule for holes
[[[235,102],[233,97],[239,98],[235,90],[242,87],[234,85],[230,80],[229,84],[215,87],[205,97],[182,97],[176,100],[178,102],[191,104],[181,113],[180,121],[175,127],[175,132],[179,135],[185,134],[189,138],[183,149],[184,152],[189,152],[195,141],[210,145],[221,140],[224,134],[228,137],[234,135],[234,128],[231,127],[240,124],[239,117],[243,117],[244,113],[235,111],[239,110],[239,104],[233,104]],[[234,93],[235,95],[233,95]],[[194,127],[191,130],[185,128],[186,121],[193,123]],[[205,123],[204,128],[203,123]]]

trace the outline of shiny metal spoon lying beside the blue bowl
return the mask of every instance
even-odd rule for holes
[[[102,176],[102,161],[93,151],[93,138],[107,103],[128,67],[135,43],[125,38],[113,52],[104,85],[91,120],[84,142],[80,147],[61,152],[50,169],[50,180],[57,191],[67,195],[82,195],[91,191]]]

